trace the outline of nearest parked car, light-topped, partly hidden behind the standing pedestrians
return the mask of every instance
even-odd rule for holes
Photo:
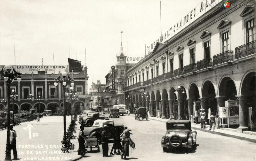
[[[124,131],[127,129],[127,127],[124,127],[124,125],[115,125],[114,120],[106,120],[106,119],[98,119],[95,120],[92,127],[86,127],[84,128],[84,135],[85,136],[96,136],[98,138],[99,144],[100,142],[100,135],[103,130],[104,125],[108,126],[108,142],[113,143],[114,142],[114,134],[115,134],[115,128],[120,128],[120,131]]]

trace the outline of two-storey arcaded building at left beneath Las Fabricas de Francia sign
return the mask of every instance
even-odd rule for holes
[[[73,112],[75,108],[77,111],[89,108],[90,96],[87,95],[87,67],[83,68],[80,61],[68,58],[68,65],[16,65],[15,68],[17,71],[20,71],[22,80],[20,82],[14,80],[11,84],[11,90],[14,89],[18,93],[14,101],[14,113],[20,110],[28,111],[30,108],[36,109],[38,112],[42,112],[45,109],[52,110],[53,113],[63,109],[63,89],[60,83],[57,87],[54,86],[54,79],[58,78],[63,71],[66,71],[68,76],[74,79],[74,89],[79,99],[76,102],[72,102]],[[54,74],[53,71],[57,74]],[[67,84],[66,90],[69,89],[69,86]],[[34,96],[34,99],[31,101],[27,99],[29,94]],[[39,96],[42,100],[37,99]],[[7,87],[4,80],[0,80],[0,98],[0,109],[7,110]],[[66,99],[69,113],[71,110],[71,100],[68,100],[68,96],[66,96]]]

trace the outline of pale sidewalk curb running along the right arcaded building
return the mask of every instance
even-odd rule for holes
[[[133,116],[134,117],[134,114],[130,114],[130,115],[127,115],[127,116]],[[148,117],[148,119],[166,123],[166,120],[151,119],[150,117]],[[196,130],[204,131],[204,132],[207,132],[207,133],[211,133],[211,134],[218,134],[218,135],[222,135],[222,136],[233,137],[233,138],[240,139],[240,140],[256,142],[256,139],[251,139],[251,138],[247,138],[247,137],[243,137],[243,136],[237,136],[237,135],[232,135],[232,134],[221,133],[221,132],[218,132],[217,130],[208,130],[206,128],[205,129],[201,129],[200,127],[193,127],[193,124],[192,124],[192,128],[196,129]]]

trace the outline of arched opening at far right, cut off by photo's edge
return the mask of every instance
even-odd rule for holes
[[[256,123],[256,72],[250,72],[245,77],[241,86],[241,96],[239,98],[239,126],[249,127],[252,130],[253,124]],[[249,107],[249,108],[248,108]],[[249,110],[248,110],[249,109]],[[247,120],[250,112],[251,120]],[[251,122],[253,124],[251,124]],[[256,131],[254,129],[254,131]]]

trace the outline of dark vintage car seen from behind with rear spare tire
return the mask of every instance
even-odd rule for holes
[[[196,145],[196,134],[196,131],[191,129],[190,120],[168,120],[165,135],[161,140],[163,151],[166,152],[167,148],[172,150],[183,147],[192,152]]]

